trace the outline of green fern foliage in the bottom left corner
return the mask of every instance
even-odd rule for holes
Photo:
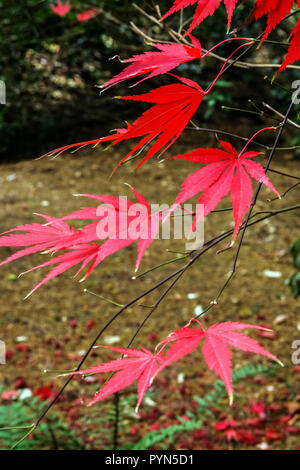
[[[28,431],[47,402],[38,397],[16,400],[0,406],[0,448],[10,449]],[[1,430],[1,428],[5,428]],[[13,429],[7,429],[13,428]],[[82,449],[83,441],[69,428],[58,412],[49,414],[30,438],[22,441],[18,450],[72,450]]]

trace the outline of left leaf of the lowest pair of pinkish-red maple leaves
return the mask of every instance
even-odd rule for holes
[[[143,397],[152,383],[152,377],[155,375],[159,367],[164,363],[164,356],[160,353],[153,354],[148,349],[140,348],[116,348],[111,346],[102,346],[103,348],[117,351],[125,358],[117,359],[115,361],[99,364],[89,369],[80,370],[78,372],[71,372],[65,375],[86,375],[86,374],[99,374],[105,372],[115,372],[111,379],[109,379],[101,390],[96,394],[88,406],[94,405],[99,400],[103,400],[113,393],[119,392],[123,388],[128,387],[136,380],[138,381],[138,401],[136,410],[138,410],[142,403]]]

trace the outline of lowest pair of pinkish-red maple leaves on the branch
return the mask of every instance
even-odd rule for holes
[[[193,321],[196,321],[201,329],[191,327],[191,323]],[[223,381],[229,395],[229,402],[232,404],[232,352],[229,349],[229,346],[242,349],[243,351],[261,354],[280,363],[276,356],[266,351],[257,341],[242,333],[237,333],[238,330],[246,328],[264,330],[261,326],[239,322],[215,323],[206,330],[198,320],[192,319],[188,325],[180,330],[176,330],[161,341],[156,347],[156,349],[158,349],[158,352],[156,353],[152,353],[141,346],[141,350],[135,348],[102,346],[103,348],[117,351],[125,357],[66,375],[87,375],[115,372],[112,378],[104,384],[94,399],[89,403],[89,406],[125,387],[128,387],[137,380],[138,409],[145,392],[148,390],[159,372],[170,364],[192,353],[198,348],[202,340],[204,340],[204,344],[202,346],[203,358],[209,369],[214,371],[215,374]],[[166,349],[167,352],[165,352]]]

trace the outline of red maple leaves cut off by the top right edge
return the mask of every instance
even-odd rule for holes
[[[230,28],[233,10],[237,2],[238,0],[224,0],[228,14],[228,29]],[[175,0],[174,5],[167,13],[165,13],[162,19],[166,19],[168,16],[183,8],[197,4],[193,21],[186,33],[187,35],[190,34],[196,26],[202,23],[205,18],[209,15],[213,15],[221,3],[223,3],[222,0]],[[264,41],[271,31],[285,18],[286,15],[291,12],[295,3],[300,7],[300,0],[256,0],[254,7],[255,19],[259,19],[265,15],[268,16],[267,26],[262,41]],[[299,22],[293,30],[291,37],[293,38],[293,41],[290,44],[289,52],[279,72],[285,69],[287,65],[294,63],[300,58]]]

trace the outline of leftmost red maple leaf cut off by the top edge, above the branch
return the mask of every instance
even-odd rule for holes
[[[207,18],[209,15],[213,15],[215,10],[220,6],[222,0],[175,0],[174,5],[172,8],[165,13],[165,15],[162,17],[164,20],[168,16],[172,15],[173,13],[181,10],[182,8],[186,8],[190,5],[195,5],[196,3],[197,8],[196,12],[193,18],[193,21],[187,31],[187,34],[189,34],[193,29],[196,28],[202,21]],[[232,14],[233,10],[235,8],[235,5],[238,0],[224,0],[227,14],[228,14],[228,29],[230,28],[231,24],[231,19],[232,19]]]

